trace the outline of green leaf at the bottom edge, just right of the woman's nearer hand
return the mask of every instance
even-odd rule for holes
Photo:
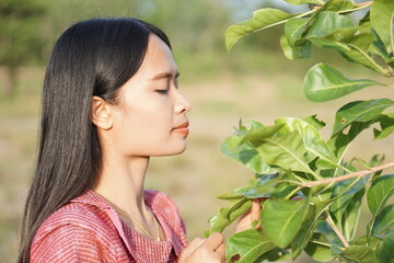
[[[239,263],[254,262],[259,255],[276,245],[257,229],[237,232],[227,241],[225,259],[230,262],[234,255],[240,255]]]

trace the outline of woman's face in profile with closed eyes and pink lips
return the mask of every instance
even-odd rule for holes
[[[151,34],[138,72],[119,90],[112,128],[124,156],[169,156],[186,148],[189,102],[179,93],[169,46]]]

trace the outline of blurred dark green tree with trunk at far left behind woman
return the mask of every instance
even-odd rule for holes
[[[35,0],[0,1],[0,66],[5,94],[14,93],[18,69],[43,57],[46,9]]]

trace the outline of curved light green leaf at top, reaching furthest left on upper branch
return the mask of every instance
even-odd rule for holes
[[[231,50],[231,48],[241,37],[252,32],[285,23],[288,19],[298,14],[289,14],[277,9],[259,9],[254,11],[252,19],[235,25],[231,25],[227,30],[225,46],[228,52]]]

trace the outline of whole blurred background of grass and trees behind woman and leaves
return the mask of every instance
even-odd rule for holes
[[[394,98],[391,88],[373,87],[327,103],[309,102],[302,93],[305,71],[326,61],[350,78],[373,78],[367,69],[314,49],[312,58],[287,60],[279,46],[281,26],[250,35],[231,54],[225,28],[263,7],[299,12],[281,0],[1,0],[0,1],[0,261],[14,262],[22,207],[34,171],[40,90],[54,41],[70,24],[99,16],[135,16],[170,36],[182,72],[181,90],[192,102],[188,149],[176,157],[154,158],[147,187],[177,202],[189,239],[201,237],[207,219],[221,205],[216,196],[246,185],[253,173],[220,153],[221,141],[242,118],[270,124],[275,118],[312,114],[327,123],[352,100]],[[382,80],[387,82],[387,80]],[[369,160],[375,153],[394,159],[394,138],[373,141],[364,133],[348,151]],[[364,206],[360,229],[369,214]],[[231,230],[229,230],[231,231]],[[229,232],[228,232],[229,233]],[[297,262],[313,262],[301,256]]]

